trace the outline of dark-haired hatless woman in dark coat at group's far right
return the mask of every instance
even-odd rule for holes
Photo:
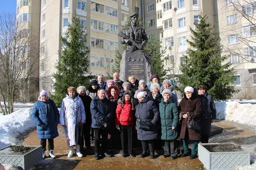
[[[206,92],[205,85],[198,86],[198,98],[202,104],[201,141],[208,143],[211,134],[211,122],[216,119],[216,108],[211,94]]]

